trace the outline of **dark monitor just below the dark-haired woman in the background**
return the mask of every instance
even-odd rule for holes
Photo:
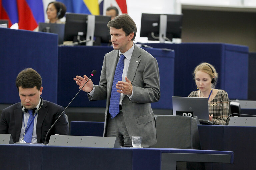
[[[58,44],[63,44],[65,24],[39,23],[39,31],[58,34]]]

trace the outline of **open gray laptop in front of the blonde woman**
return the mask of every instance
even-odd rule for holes
[[[172,97],[173,115],[197,116],[201,124],[212,124],[209,121],[208,98]]]

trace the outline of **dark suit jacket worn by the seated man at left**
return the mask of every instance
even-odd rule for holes
[[[56,121],[64,108],[55,103],[43,100],[42,107],[38,111],[36,136],[37,142],[43,143],[47,131]],[[23,120],[21,103],[13,104],[2,111],[0,119],[0,134],[11,134],[13,142],[18,142]],[[47,143],[51,135],[69,135],[68,122],[65,115],[62,114],[47,136]]]

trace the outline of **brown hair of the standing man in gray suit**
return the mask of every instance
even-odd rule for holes
[[[128,36],[130,33],[134,33],[132,40],[134,41],[137,27],[133,19],[128,14],[122,14],[116,16],[113,20],[108,22],[108,28],[114,27],[116,29],[123,29],[125,36]]]

